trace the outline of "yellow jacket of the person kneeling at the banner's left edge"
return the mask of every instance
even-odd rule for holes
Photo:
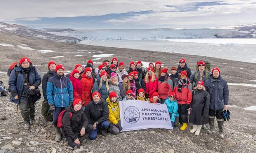
[[[109,107],[109,123],[116,125],[120,120],[119,102],[110,102],[109,97],[107,97],[106,102],[107,107]]]

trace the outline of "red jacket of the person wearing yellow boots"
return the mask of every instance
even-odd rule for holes
[[[178,85],[173,90],[176,94],[178,104],[190,104],[192,101],[192,85],[191,83],[185,84],[181,88],[181,93],[178,92]]]

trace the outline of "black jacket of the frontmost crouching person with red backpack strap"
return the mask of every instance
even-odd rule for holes
[[[70,118],[69,112],[72,113],[72,118]],[[88,127],[88,118],[85,116],[83,108],[79,111],[75,111],[72,105],[66,107],[66,112],[62,118],[63,123],[63,134],[65,137],[71,137],[71,139],[76,139],[78,136],[78,130],[81,126],[85,129]],[[80,128],[79,128],[80,127]]]

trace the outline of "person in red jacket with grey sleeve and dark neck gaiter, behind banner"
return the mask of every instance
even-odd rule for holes
[[[157,92],[161,100],[161,104],[167,99],[168,93],[173,92],[173,81],[168,78],[168,69],[164,68],[161,70],[161,77],[158,80]]]

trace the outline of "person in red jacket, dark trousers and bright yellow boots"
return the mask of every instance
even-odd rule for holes
[[[180,115],[180,123],[183,123],[180,130],[185,130],[187,128],[187,109],[190,106],[192,100],[192,85],[190,80],[187,78],[187,72],[182,71],[180,73],[180,80],[174,88],[176,99],[178,102],[178,112]]]

